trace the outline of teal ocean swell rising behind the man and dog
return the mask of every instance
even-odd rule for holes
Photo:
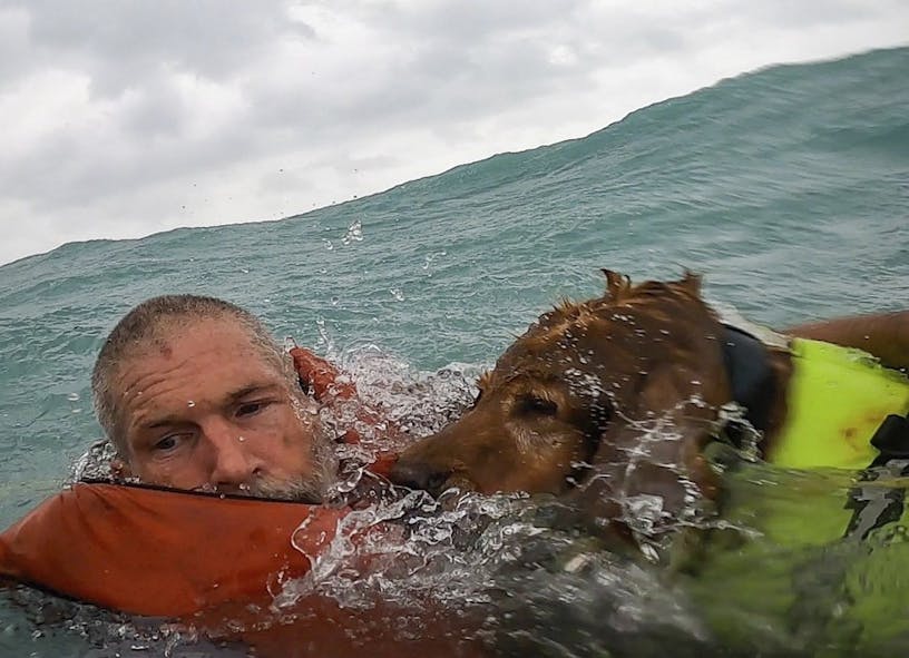
[[[711,302],[773,327],[905,308],[907,71],[909,48],[772,67],[280,222],[68,244],[0,267],[0,522],[59,490],[100,436],[94,357],[156,294],[225,297],[276,336],[354,366],[379,352],[413,377],[491,364],[559,298],[598,294],[602,267],[636,281],[694,269]],[[96,655],[85,634],[27,617],[0,606],[0,654]]]

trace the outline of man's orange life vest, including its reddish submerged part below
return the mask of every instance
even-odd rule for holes
[[[319,595],[271,612],[282,583],[310,571],[349,512],[77,483],[0,536],[0,580],[124,612],[176,618],[202,636],[241,642],[260,658],[483,655],[473,636],[481,619],[451,615],[436,601],[419,601],[416,618],[413,607],[381,599],[348,609]]]

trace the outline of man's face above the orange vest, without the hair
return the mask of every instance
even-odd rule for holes
[[[178,489],[321,492],[326,441],[295,382],[234,318],[163,332],[120,365],[124,474]]]

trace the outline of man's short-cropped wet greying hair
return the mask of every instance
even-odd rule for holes
[[[174,331],[205,320],[236,322],[263,360],[289,379],[290,361],[258,318],[248,311],[202,295],[163,295],[147,299],[127,313],[107,336],[91,372],[95,413],[120,456],[128,456],[118,413],[123,391],[113,384],[120,367],[155,346],[163,346]]]

